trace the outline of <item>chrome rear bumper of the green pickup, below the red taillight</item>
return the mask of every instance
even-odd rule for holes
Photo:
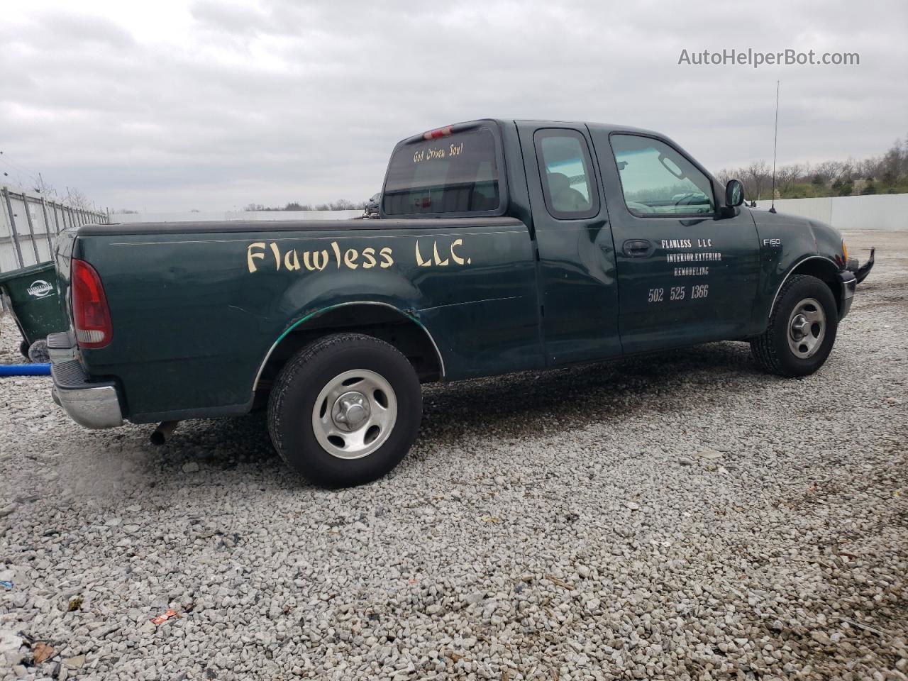
[[[70,418],[91,429],[123,425],[123,410],[114,381],[88,382],[79,360],[53,360],[51,396]]]

